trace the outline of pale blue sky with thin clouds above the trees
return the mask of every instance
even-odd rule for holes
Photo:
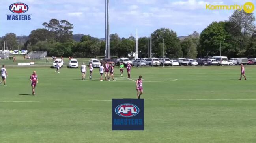
[[[23,2],[29,6],[24,14],[32,14],[30,21],[7,21],[9,5]],[[110,34],[127,38],[149,36],[161,27],[170,28],[178,36],[201,32],[213,21],[227,20],[232,10],[206,10],[206,4],[243,5],[256,0],[110,0]],[[1,0],[0,36],[12,32],[29,35],[50,19],[68,20],[74,25],[73,34],[90,34],[105,38],[105,0]],[[256,10],[254,10],[255,12]],[[255,14],[254,14],[255,15]]]

